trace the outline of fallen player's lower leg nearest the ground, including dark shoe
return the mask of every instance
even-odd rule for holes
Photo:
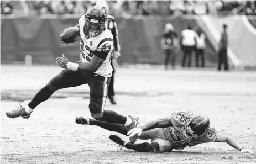
[[[119,150],[122,150],[122,147],[126,147],[127,149],[132,149],[138,152],[160,152],[158,142],[152,142],[151,144],[149,144],[148,142],[131,144],[130,142],[119,137],[118,135],[110,135],[109,139],[119,145]]]

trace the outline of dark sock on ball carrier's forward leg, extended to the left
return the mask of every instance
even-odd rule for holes
[[[50,91],[50,89],[47,86],[41,88],[40,91],[38,91],[38,93],[35,94],[34,98],[28,103],[28,107],[31,109],[35,109],[35,107],[39,105],[41,102],[48,100],[48,98],[50,98],[53,93],[54,92]],[[27,110],[29,111],[29,109]]]

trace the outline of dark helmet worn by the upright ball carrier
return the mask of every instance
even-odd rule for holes
[[[97,36],[105,29],[107,22],[106,10],[101,6],[92,6],[85,15],[85,31],[88,37]]]

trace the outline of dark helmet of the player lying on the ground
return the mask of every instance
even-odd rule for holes
[[[210,120],[204,114],[194,114],[181,128],[181,136],[186,141],[203,136],[210,127]]]

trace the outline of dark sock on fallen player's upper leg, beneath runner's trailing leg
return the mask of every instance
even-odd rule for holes
[[[100,126],[103,129],[106,129],[109,131],[116,131],[123,135],[127,135],[127,132],[128,132],[126,126],[124,126],[122,124],[107,123],[105,121],[99,121],[99,120],[94,120],[94,119],[90,119],[89,123],[90,123],[90,125]]]

